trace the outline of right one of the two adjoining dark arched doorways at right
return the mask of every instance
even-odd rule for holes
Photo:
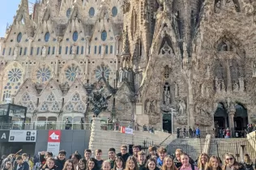
[[[248,124],[248,115],[247,110],[241,104],[236,104],[236,113],[234,116],[234,125],[235,130],[245,130],[246,125]]]

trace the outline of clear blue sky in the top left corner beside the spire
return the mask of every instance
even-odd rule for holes
[[[6,23],[11,24],[14,15],[18,10],[21,0],[2,0],[0,6],[0,36],[3,37],[6,32]],[[34,0],[32,1],[34,2]]]

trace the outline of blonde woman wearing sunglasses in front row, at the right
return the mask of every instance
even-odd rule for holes
[[[233,154],[228,153],[224,158],[225,161],[224,168],[222,168],[223,170],[245,170],[244,166],[237,162]]]

